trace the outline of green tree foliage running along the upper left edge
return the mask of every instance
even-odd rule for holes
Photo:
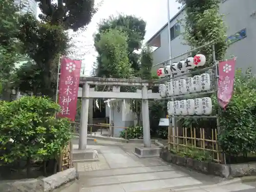
[[[3,100],[10,100],[12,72],[19,58],[20,43],[16,40],[19,23],[18,7],[13,0],[0,0],[0,79]]]

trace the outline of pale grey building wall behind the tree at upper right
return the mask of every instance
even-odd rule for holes
[[[246,3],[245,3],[246,2]],[[237,56],[237,67],[246,70],[252,67],[252,71],[256,73],[256,1],[255,0],[225,0],[220,5],[220,13],[224,14],[224,22],[226,23],[227,37],[235,35],[240,30],[246,28],[246,38],[234,42],[229,46],[226,53],[226,58],[231,55]],[[185,11],[182,11],[170,23],[172,28],[180,19],[185,18]],[[184,28],[181,25],[181,33]],[[163,62],[168,59],[168,27],[160,31],[161,47],[153,52],[153,65]],[[187,52],[190,48],[184,45],[185,40],[181,35],[171,41],[172,57]],[[185,56],[184,56],[185,57]],[[184,57],[177,58],[175,61],[184,59]],[[153,68],[156,71],[158,67]]]

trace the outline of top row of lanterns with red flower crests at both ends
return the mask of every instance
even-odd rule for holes
[[[198,66],[204,66],[205,62],[205,56],[203,54],[197,54],[195,57],[188,57],[185,60],[180,60],[180,62],[174,62],[172,65],[159,68],[157,70],[157,75],[159,77],[179,75],[186,73],[189,69],[194,69]]]

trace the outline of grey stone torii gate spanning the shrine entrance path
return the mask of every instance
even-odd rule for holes
[[[143,143],[144,147],[151,147],[150,138],[150,117],[148,111],[148,99],[160,99],[159,93],[148,93],[148,86],[156,86],[159,83],[153,83],[142,79],[115,79],[100,77],[80,77],[82,85],[82,108],[79,130],[79,150],[87,149],[87,130],[89,115],[90,98],[113,98],[113,99],[142,99],[142,121],[143,121]],[[112,92],[101,92],[90,90],[90,85],[113,86]],[[120,86],[141,86],[141,93],[120,92]]]

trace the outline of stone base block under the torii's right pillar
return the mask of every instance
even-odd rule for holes
[[[135,147],[134,154],[139,157],[159,157],[161,147]]]

